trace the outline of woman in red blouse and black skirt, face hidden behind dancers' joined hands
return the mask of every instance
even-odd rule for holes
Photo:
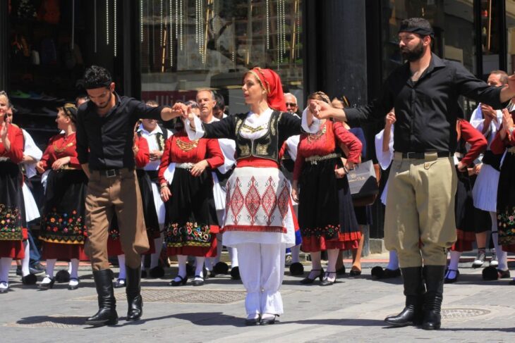
[[[217,255],[219,223],[211,172],[222,164],[224,155],[217,139],[190,140],[182,130],[166,140],[159,166],[159,192],[166,207],[166,250],[169,256],[177,255],[178,261],[178,274],[171,286],[186,285],[188,256],[195,256],[192,285],[204,285],[205,258]]]

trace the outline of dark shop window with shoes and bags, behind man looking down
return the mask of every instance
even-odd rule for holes
[[[87,66],[111,70],[120,89],[113,31],[120,26],[113,8],[120,1],[11,0],[8,96],[18,109],[14,123],[27,130],[40,149],[58,130],[57,107],[75,102],[75,86]],[[109,14],[105,6],[111,6]],[[119,11],[118,8],[117,11]],[[96,14],[95,14],[96,13]],[[109,35],[106,31],[110,30]],[[108,44],[109,43],[109,44]],[[122,91],[123,92],[123,91]]]

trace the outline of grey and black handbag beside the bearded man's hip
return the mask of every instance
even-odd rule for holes
[[[379,194],[379,166],[374,165],[372,160],[357,164],[349,171],[347,180],[351,190],[354,206],[366,206],[374,204]]]

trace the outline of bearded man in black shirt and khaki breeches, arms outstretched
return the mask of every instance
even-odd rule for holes
[[[399,48],[408,61],[389,75],[379,99],[363,108],[330,108],[312,101],[318,118],[346,120],[352,126],[384,120],[395,110],[394,161],[389,173],[384,240],[399,254],[406,307],[386,318],[394,326],[420,324],[440,328],[446,249],[456,241],[454,194],[456,118],[463,117],[459,96],[494,108],[515,96],[515,76],[508,87],[490,87],[461,64],[431,53],[428,20],[403,20]],[[467,166],[459,163],[458,168]],[[420,242],[420,244],[419,244]],[[423,313],[423,308],[424,313]]]

